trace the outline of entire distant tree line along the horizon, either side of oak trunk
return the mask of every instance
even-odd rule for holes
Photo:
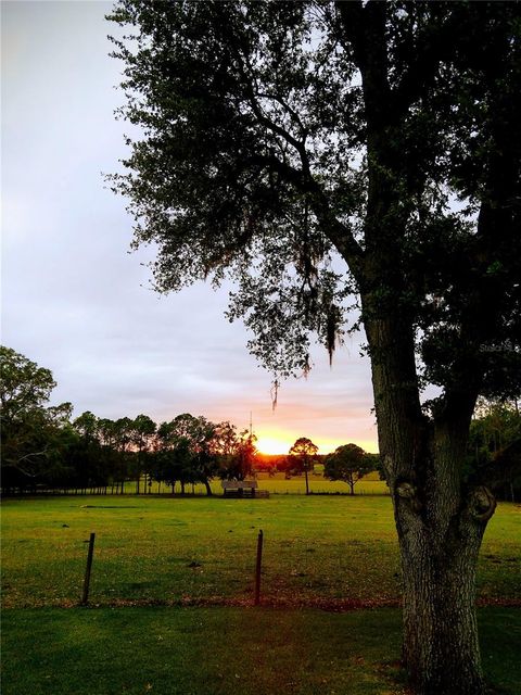
[[[212,494],[214,478],[243,480],[257,471],[308,476],[320,464],[323,477],[340,480],[355,494],[356,483],[381,470],[377,454],[344,444],[326,456],[307,438],[298,438],[288,455],[257,452],[255,437],[228,421],[212,422],[189,413],[161,424],[148,415],[116,420],[86,412],[73,419],[71,403],[48,405],[56,386],[49,369],[10,348],[0,346],[1,485],[3,494],[41,490],[123,494],[135,483],[148,494],[185,494],[203,484]],[[517,403],[481,402],[470,432],[468,475],[496,471],[495,491],[505,500],[521,493],[521,416]],[[125,484],[127,486],[125,488]]]

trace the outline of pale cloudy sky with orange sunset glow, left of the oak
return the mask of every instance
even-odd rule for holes
[[[1,342],[52,370],[52,403],[116,419],[180,413],[250,425],[266,453],[308,437],[319,453],[354,442],[377,451],[370,368],[360,337],[332,368],[313,353],[307,379],[282,383],[247,353],[227,292],[198,283],[150,289],[152,252],[130,252],[132,220],[103,175],[120,170],[125,123],[114,110],[122,65],[111,59],[101,1],[2,1]]]

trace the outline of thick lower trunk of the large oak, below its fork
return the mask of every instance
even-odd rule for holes
[[[399,489],[399,485],[398,485]],[[402,489],[402,494],[408,494]],[[486,521],[484,490],[445,523],[396,494],[404,583],[403,658],[421,695],[484,692],[475,618],[475,568]],[[480,496],[483,500],[480,502]],[[480,504],[482,506],[480,506]]]

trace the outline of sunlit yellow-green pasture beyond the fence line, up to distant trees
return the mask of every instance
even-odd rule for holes
[[[485,603],[521,603],[519,519],[519,506],[500,504],[488,525],[479,567]],[[3,503],[3,606],[77,605],[91,531],[94,605],[247,604],[259,529],[266,603],[399,603],[389,497],[78,496]]]

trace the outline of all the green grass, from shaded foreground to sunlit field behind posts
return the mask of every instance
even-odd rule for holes
[[[498,505],[479,568],[485,669],[512,695],[520,513]],[[90,532],[90,608],[78,608]],[[389,496],[8,500],[2,544],[10,695],[406,692]]]

